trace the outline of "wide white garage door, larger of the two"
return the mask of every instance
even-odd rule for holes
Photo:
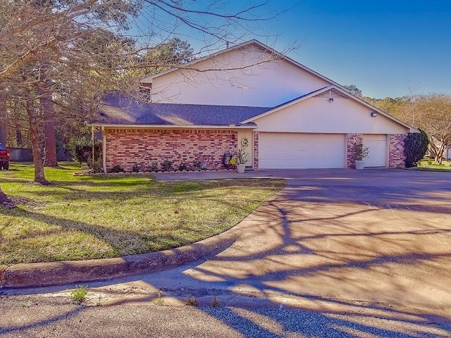
[[[345,134],[259,133],[259,168],[345,168]]]

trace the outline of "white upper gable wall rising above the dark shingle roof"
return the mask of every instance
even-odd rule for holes
[[[154,77],[152,101],[277,106],[330,84],[256,44],[211,56],[193,67],[199,71],[179,69]]]

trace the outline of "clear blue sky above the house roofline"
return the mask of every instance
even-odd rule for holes
[[[259,2],[219,2],[232,11],[248,1]],[[268,0],[261,13],[298,2],[264,23],[263,36],[245,39],[259,39],[278,51],[301,43],[290,58],[335,82],[357,85],[365,96],[451,94],[451,0]],[[193,32],[181,38],[197,51],[205,44]]]

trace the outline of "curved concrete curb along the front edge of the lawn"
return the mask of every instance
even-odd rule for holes
[[[0,265],[0,289],[94,282],[170,270],[223,251],[237,239],[236,228],[180,248],[121,258]]]

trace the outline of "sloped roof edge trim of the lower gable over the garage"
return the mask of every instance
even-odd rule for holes
[[[341,88],[341,86],[336,86],[335,84],[331,84],[330,86],[323,87],[321,89],[314,90],[313,92],[310,92],[309,94],[305,94],[302,96],[297,97],[296,99],[292,99],[288,102],[285,102],[284,104],[280,104],[279,106],[276,106],[272,108],[271,110],[265,111],[257,116],[252,116],[251,118],[248,118],[247,120],[243,120],[242,123],[253,123],[254,120],[257,120],[258,118],[262,118],[266,115],[276,113],[276,111],[280,111],[282,108],[287,108],[289,106],[292,106],[293,104],[297,104],[301,101],[307,100],[314,96],[330,96],[331,98],[341,97],[345,99],[352,99],[354,101],[357,101],[357,103],[362,104],[363,106],[366,106],[367,108],[370,108],[373,111],[376,111],[377,113],[380,113],[381,115],[384,115],[385,117],[389,118],[390,120],[395,121],[395,123],[399,123],[400,125],[409,128],[410,132],[418,132],[415,127],[412,127],[412,125],[409,125],[408,123],[403,122],[402,120],[395,118],[395,116],[390,115],[389,113],[386,113],[385,111],[381,111],[381,109],[376,108],[375,106],[369,104],[368,102],[359,99],[357,96],[354,96],[350,94],[347,90],[344,90]]]

